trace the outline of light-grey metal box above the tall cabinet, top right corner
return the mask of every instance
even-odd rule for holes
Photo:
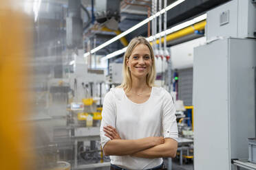
[[[233,0],[207,12],[206,39],[256,38],[256,3]]]

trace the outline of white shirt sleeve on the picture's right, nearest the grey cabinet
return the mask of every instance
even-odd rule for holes
[[[173,138],[178,141],[178,127],[175,117],[175,106],[173,99],[166,91],[164,94],[164,101],[162,105],[162,130],[164,138]]]

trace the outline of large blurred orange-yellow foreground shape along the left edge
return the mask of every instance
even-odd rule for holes
[[[28,59],[32,53],[33,27],[17,4],[0,0],[0,166],[33,169],[32,129],[24,119],[30,113]]]

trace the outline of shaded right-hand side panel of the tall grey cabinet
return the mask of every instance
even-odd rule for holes
[[[255,136],[256,40],[229,39],[231,158],[248,158],[247,138]]]

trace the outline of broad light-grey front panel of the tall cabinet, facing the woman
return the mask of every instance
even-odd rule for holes
[[[194,166],[229,169],[228,40],[195,48],[193,66]],[[216,163],[217,162],[217,163]]]

